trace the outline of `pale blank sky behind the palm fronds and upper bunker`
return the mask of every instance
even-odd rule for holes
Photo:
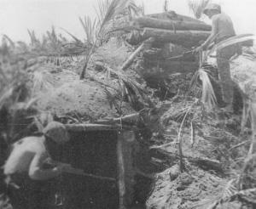
[[[199,1],[199,0],[198,0]],[[81,39],[85,38],[79,17],[96,17],[98,0],[0,0],[0,34],[8,35],[13,41],[29,42],[27,30],[34,30],[37,37],[42,33],[55,31],[65,37],[71,32]],[[137,5],[144,5],[145,14],[163,12],[165,0],[134,0]],[[225,14],[233,20],[237,34],[256,34],[256,0],[212,0],[219,3]],[[193,16],[189,12],[188,0],[168,0],[168,9],[177,14]],[[204,19],[211,23],[207,17]]]

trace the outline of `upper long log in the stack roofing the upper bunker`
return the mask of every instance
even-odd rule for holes
[[[163,30],[172,31],[212,31],[212,26],[207,25],[203,22],[184,22],[184,21],[173,21],[173,20],[159,20],[151,17],[140,17],[136,20],[131,21],[132,26],[142,26],[149,28],[158,28]]]

